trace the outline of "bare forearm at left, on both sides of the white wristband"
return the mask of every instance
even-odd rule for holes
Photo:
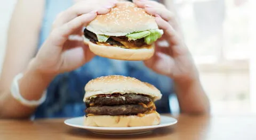
[[[38,100],[52,81],[53,75],[42,75],[31,62],[19,80],[20,94],[27,100]],[[1,93],[0,118],[28,118],[36,107],[27,107],[14,99],[10,90]]]

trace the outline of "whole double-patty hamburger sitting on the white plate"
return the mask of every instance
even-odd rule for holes
[[[162,98],[155,86],[136,78],[110,75],[85,85],[85,126],[136,127],[160,123],[154,101]]]

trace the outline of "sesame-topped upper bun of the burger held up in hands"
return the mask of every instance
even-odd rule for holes
[[[105,15],[98,15],[87,27],[95,34],[125,36],[128,33],[158,29],[155,17],[131,2],[118,2]]]

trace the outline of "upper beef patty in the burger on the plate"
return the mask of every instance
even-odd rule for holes
[[[86,107],[90,107],[90,103],[92,106],[116,106],[116,105],[123,105],[123,104],[138,104],[140,102],[148,104],[149,102],[153,101],[147,95],[142,94],[110,94],[110,95],[98,95],[95,98],[91,98],[85,102]]]

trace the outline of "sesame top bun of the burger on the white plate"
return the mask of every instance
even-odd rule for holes
[[[98,94],[113,93],[145,94],[152,97],[154,101],[162,98],[161,92],[154,85],[141,82],[133,77],[110,75],[95,78],[85,85],[84,102]]]

